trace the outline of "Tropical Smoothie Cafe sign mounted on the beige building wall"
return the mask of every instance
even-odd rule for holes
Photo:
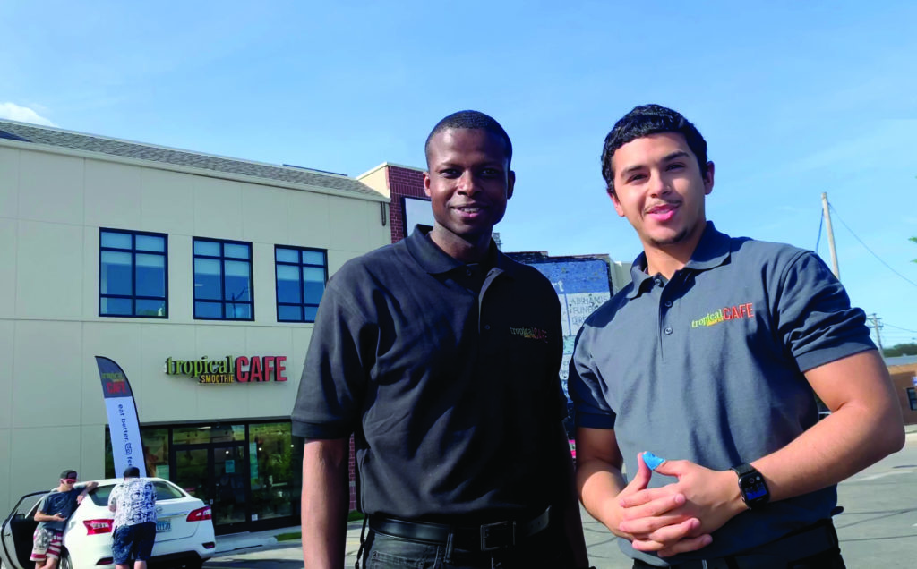
[[[226,356],[223,359],[166,358],[167,376],[190,376],[198,383],[286,381],[286,356]]]

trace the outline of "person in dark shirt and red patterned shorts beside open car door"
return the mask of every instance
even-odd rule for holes
[[[63,528],[76,507],[87,494],[98,486],[97,482],[76,484],[79,480],[75,470],[61,472],[59,486],[41,498],[35,520],[39,522],[32,536],[32,554],[30,561],[35,562],[35,569],[54,569],[61,559],[61,542]]]

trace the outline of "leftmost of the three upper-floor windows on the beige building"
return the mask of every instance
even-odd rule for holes
[[[99,316],[168,318],[167,236],[99,229]]]

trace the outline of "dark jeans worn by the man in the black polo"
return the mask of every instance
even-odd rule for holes
[[[411,542],[369,530],[360,567],[365,569],[529,569],[561,567],[561,553],[548,532],[494,552],[453,550],[447,559],[446,544]],[[540,539],[539,539],[540,538]]]

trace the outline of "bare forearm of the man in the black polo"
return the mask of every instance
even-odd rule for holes
[[[303,453],[303,559],[306,567],[344,565],[348,440],[308,441]]]

